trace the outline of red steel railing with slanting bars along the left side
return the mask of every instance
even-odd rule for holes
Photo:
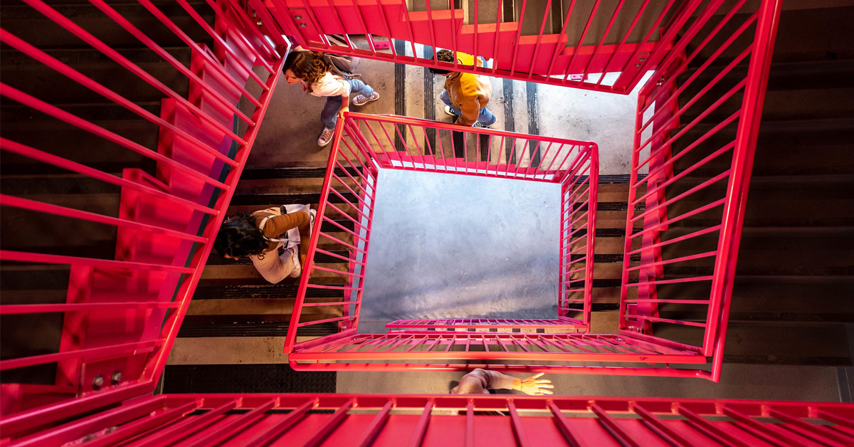
[[[38,95],[38,91],[26,92],[13,85],[0,85],[0,95],[4,100],[25,104],[57,121],[102,138],[106,144],[104,148],[97,149],[103,150],[104,154],[109,153],[108,149],[118,147],[119,150],[131,150],[147,157],[157,165],[155,176],[139,168],[126,168],[116,176],[53,155],[50,151],[0,137],[0,149],[4,152],[121,188],[117,217],[32,198],[0,195],[0,205],[5,209],[60,215],[80,225],[94,222],[117,228],[114,259],[88,257],[86,253],[60,256],[0,250],[0,260],[4,263],[59,264],[70,266],[71,271],[66,303],[7,302],[0,305],[0,315],[64,316],[58,351],[0,361],[0,370],[4,373],[51,363],[57,368],[56,383],[52,385],[11,383],[10,379],[4,378],[3,385],[0,385],[3,411],[0,432],[3,432],[3,438],[140,397],[155,389],[211,250],[210,242],[219,230],[284,62],[281,57],[274,56],[275,50],[266,46],[263,35],[253,37],[251,32],[257,30],[248,30],[240,25],[243,21],[250,21],[247,10],[227,2],[208,3],[214,12],[214,30],[193,6],[179,0],[190,17],[213,38],[213,48],[208,48],[191,40],[154,3],[140,1],[156,21],[186,44],[191,54],[190,68],[187,68],[184,62],[179,62],[164,50],[155,38],[134,26],[108,3],[93,0],[93,5],[105,17],[187,78],[190,93],[183,97],[57,9],[40,0],[24,0],[24,3],[126,69],[130,77],[141,79],[161,91],[164,99],[160,115],[155,115],[133,103],[132,99],[111,91],[102,84],[105,79],[92,79],[45,50],[11,32],[0,30],[0,41],[9,48],[32,57],[45,70],[61,74],[108,102],[149,121],[155,125],[152,132],[160,129],[158,147],[151,150],[94,122],[72,115],[51,104],[51,98],[44,101],[32,96]],[[266,26],[277,30],[272,32],[273,39],[278,38],[281,44],[286,44],[275,22],[268,19]],[[254,67],[260,67],[263,76],[254,73]],[[243,98],[249,103],[248,107],[240,107]],[[242,135],[237,134],[237,121],[246,125]],[[44,215],[38,219],[44,219]],[[100,384],[97,382],[99,377]],[[163,398],[148,397],[137,402],[121,407],[119,412],[122,415],[148,414],[161,408],[158,405]],[[167,414],[173,418],[183,415],[183,412]]]

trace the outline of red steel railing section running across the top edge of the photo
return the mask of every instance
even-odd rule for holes
[[[412,3],[403,0],[269,3],[282,29],[306,49],[622,94],[632,91],[647,71],[658,68],[678,44],[681,26],[703,3],[570,0],[564,2],[565,14],[555,15],[549,0],[540,17],[532,10],[541,4],[530,2],[528,6],[529,2],[523,1],[518,17],[502,17],[502,3],[506,1],[474,0],[473,17],[467,17],[464,9],[454,9],[451,0],[443,9],[431,9],[433,5],[427,3],[425,11],[409,10]],[[479,7],[498,11],[496,18],[485,19],[494,22],[483,23]],[[549,15],[562,23],[560,32],[546,32]],[[577,24],[570,26],[570,21]],[[523,22],[538,24],[539,32],[523,26]],[[608,25],[597,27],[594,22]],[[331,44],[327,38],[331,34],[343,35],[346,45]],[[351,36],[364,38],[362,48],[357,48]],[[407,51],[395,50],[389,44],[393,40],[404,42]],[[383,49],[377,42],[383,42]],[[480,56],[491,64],[477,67],[473,62],[439,62],[436,51],[424,47],[459,51],[476,56],[476,60]],[[605,74],[612,76],[606,80]]]

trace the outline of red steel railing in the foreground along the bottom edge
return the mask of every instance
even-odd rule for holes
[[[73,445],[84,438],[87,446],[130,441],[242,447],[843,447],[854,443],[854,405],[654,397],[167,394],[44,427],[15,439],[15,445]]]

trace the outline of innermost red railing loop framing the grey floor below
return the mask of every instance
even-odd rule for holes
[[[603,373],[613,362],[705,363],[705,356],[694,352],[635,338],[567,333],[564,327],[561,333],[547,333],[553,332],[550,330],[554,326],[548,326],[550,324],[569,326],[579,332],[589,329],[594,238],[588,240],[587,236],[595,233],[596,208],[592,204],[596,203],[599,184],[595,144],[494,130],[456,131],[460,128],[436,121],[390,115],[348,113],[345,117],[336,128],[319,219],[314,222],[309,261],[304,267],[304,271],[311,274],[304,274],[301,279],[285,346],[292,368],[461,370],[482,366],[472,362],[483,362],[489,368],[507,371]],[[435,131],[435,139],[427,137],[428,128]],[[459,136],[455,135],[457,133]],[[417,138],[418,135],[423,138]],[[407,142],[406,149],[395,150],[399,147],[395,146],[395,141],[400,143],[401,140]],[[505,144],[508,140],[509,144]],[[541,151],[541,156],[517,158],[517,149],[521,149],[518,153],[525,154],[527,147],[535,147]],[[509,149],[509,156],[505,149]],[[386,187],[379,181],[383,168],[401,171],[404,176],[412,176],[413,173],[407,171],[420,171],[560,185],[561,263],[557,318],[551,321],[397,321],[399,326],[389,325],[388,333],[359,333],[366,297],[365,269],[371,257],[371,232],[379,216],[377,191]],[[352,224],[349,228],[336,223],[342,217]],[[336,226],[336,229],[327,226],[329,230],[325,230],[325,225]],[[338,237],[329,231],[339,233]],[[344,237],[341,232],[345,232]],[[330,242],[338,244],[336,253],[330,250]],[[337,256],[342,262],[337,266],[319,267],[312,262],[313,256],[318,255]],[[316,306],[339,307],[341,316],[313,320],[313,315],[303,314],[304,309]],[[574,312],[579,312],[580,318],[572,318],[570,315]],[[336,333],[308,341],[296,340],[301,329],[330,322],[336,323]],[[567,361],[575,364],[566,364]],[[516,364],[519,362],[525,364]],[[595,362],[597,366],[584,364],[588,362]],[[612,368],[611,371],[659,374],[667,369],[672,375],[697,375],[695,371],[661,366]]]

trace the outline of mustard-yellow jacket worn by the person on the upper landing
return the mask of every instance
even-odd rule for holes
[[[471,67],[473,60],[474,56],[457,52],[457,62],[460,64]],[[445,90],[454,109],[462,113],[457,120],[457,124],[461,126],[471,126],[476,123],[480,109],[486,107],[492,95],[489,79],[471,73],[452,73],[445,79]]]

